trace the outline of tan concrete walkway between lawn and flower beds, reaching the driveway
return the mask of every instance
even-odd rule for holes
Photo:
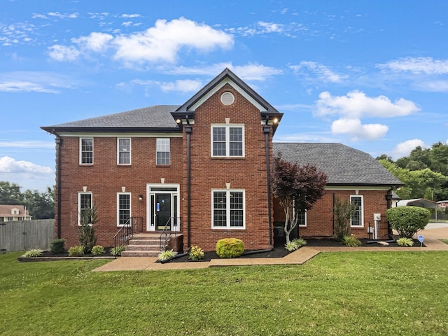
[[[321,252],[355,252],[355,251],[448,251],[448,245],[438,239],[448,239],[448,225],[428,225],[426,230],[419,232],[423,235],[426,247],[320,247],[304,246],[283,258],[235,258],[212,259],[209,262],[156,262],[157,258],[120,257],[94,269],[96,272],[109,271],[137,271],[137,270],[167,270],[167,269],[198,269],[222,266],[249,266],[249,265],[302,265]]]

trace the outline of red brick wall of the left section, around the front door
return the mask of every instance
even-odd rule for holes
[[[78,192],[92,193],[99,211],[97,244],[113,246],[117,227],[117,193],[126,187],[131,195],[132,216],[144,218],[146,227],[146,183],[181,183],[182,138],[171,138],[171,165],[155,166],[155,137],[132,138],[132,165],[117,165],[117,137],[94,137],[93,165],[79,165],[79,138],[62,137],[61,226],[66,246],[78,245]],[[139,201],[139,195],[144,200]],[[56,221],[57,222],[57,221]]]

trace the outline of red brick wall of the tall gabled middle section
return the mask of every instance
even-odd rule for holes
[[[225,91],[234,94],[234,104],[221,103],[220,97]],[[244,124],[244,158],[211,158],[211,124],[225,124],[225,118],[230,118],[230,124]],[[222,87],[195,111],[190,147],[191,245],[212,251],[219,239],[235,237],[244,242],[246,250],[269,247],[265,135],[260,121],[260,111],[230,85]],[[245,190],[245,230],[211,228],[211,190],[225,190],[225,183],[231,183],[230,189]],[[186,189],[183,190],[186,203]],[[184,232],[186,211],[183,207]],[[187,246],[186,235],[184,246]]]

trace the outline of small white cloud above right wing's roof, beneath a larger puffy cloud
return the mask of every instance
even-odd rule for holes
[[[346,134],[353,141],[377,140],[386,135],[388,127],[381,124],[363,125],[359,119],[338,119],[331,124],[332,134]]]

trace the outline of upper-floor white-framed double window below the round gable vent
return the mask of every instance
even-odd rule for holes
[[[212,125],[211,156],[244,157],[244,126]]]

